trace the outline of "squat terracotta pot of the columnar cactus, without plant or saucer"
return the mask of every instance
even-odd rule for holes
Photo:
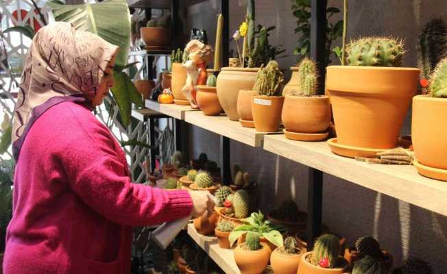
[[[330,124],[329,97],[286,95],[281,119],[289,132],[326,132]]]

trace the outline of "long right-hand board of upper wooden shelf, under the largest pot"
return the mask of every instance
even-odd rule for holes
[[[447,216],[447,183],[418,174],[414,166],[369,164],[335,155],[326,142],[265,136],[264,149],[396,199]]]

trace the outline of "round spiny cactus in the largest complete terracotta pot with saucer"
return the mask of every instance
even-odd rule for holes
[[[348,66],[327,67],[326,89],[337,130],[337,139],[328,144],[334,153],[374,157],[396,147],[420,72],[398,67],[404,52],[402,40],[359,38],[346,47]]]

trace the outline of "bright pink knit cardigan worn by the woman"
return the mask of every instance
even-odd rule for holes
[[[129,175],[123,150],[88,108],[49,108],[21,147],[4,273],[130,273],[131,227],[186,217],[192,201]]]

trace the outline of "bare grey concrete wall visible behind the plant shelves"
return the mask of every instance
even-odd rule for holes
[[[328,2],[330,6],[341,8],[341,1]],[[210,0],[188,10],[189,27],[206,29],[211,44],[215,37],[218,4],[219,1]],[[243,20],[245,5],[246,1],[230,0],[231,34]],[[404,66],[417,64],[416,45],[422,25],[435,17],[447,20],[445,0],[350,1],[349,10],[348,38],[391,35],[406,39],[408,52]],[[295,63],[296,58],[291,51],[299,38],[293,31],[295,18],[291,14],[291,0],[257,0],[256,13],[257,23],[276,25],[271,42],[282,44],[287,49],[290,56],[279,60],[287,69]],[[402,133],[410,132],[409,121],[407,119]],[[206,152],[209,158],[219,160],[219,136],[197,127],[190,127],[190,131],[193,155],[197,157],[200,152]],[[241,163],[257,179],[261,186],[262,210],[267,212],[289,195],[295,198],[302,210],[306,210],[306,166],[236,141],[231,142],[231,160]],[[349,242],[369,234],[394,254],[396,264],[401,264],[408,257],[419,257],[430,262],[436,274],[447,272],[447,217],[330,175],[324,175],[323,210],[324,223],[333,232],[346,236]]]

